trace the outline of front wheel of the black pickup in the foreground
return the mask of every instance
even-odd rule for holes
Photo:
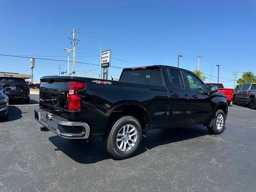
[[[226,116],[222,110],[218,110],[212,122],[212,127],[207,127],[208,131],[212,134],[220,134],[225,127]]]

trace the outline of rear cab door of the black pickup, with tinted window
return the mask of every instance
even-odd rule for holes
[[[191,110],[190,90],[186,90],[182,72],[178,69],[168,68],[169,80],[166,86],[169,90],[169,126],[187,124]]]

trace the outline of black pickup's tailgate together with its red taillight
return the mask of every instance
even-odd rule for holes
[[[82,84],[83,87],[76,90],[74,85],[76,86],[77,83]],[[70,90],[70,85],[73,86],[72,90]],[[85,96],[84,85],[84,82],[72,77],[49,76],[48,78],[41,78],[40,108],[64,118],[73,119],[72,114],[80,111],[80,97]],[[71,108],[75,105],[78,107]]]

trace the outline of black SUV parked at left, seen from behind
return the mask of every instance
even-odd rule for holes
[[[29,86],[22,77],[0,76],[0,83],[9,99],[30,101]]]

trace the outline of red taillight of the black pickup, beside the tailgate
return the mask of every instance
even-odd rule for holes
[[[84,82],[70,81],[68,84],[68,110],[80,110],[81,98],[77,91],[84,89]]]

